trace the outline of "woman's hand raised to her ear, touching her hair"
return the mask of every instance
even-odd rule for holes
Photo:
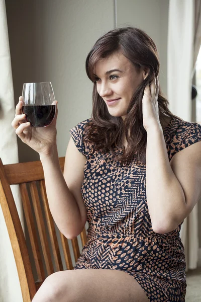
[[[142,98],[143,126],[146,131],[151,128],[161,127],[158,110],[158,93],[159,80],[158,77],[154,77],[151,84],[145,87]]]

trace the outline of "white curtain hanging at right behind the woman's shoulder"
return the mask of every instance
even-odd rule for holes
[[[191,86],[194,57],[194,0],[170,0],[168,20],[167,95],[170,110],[191,121]],[[184,219],[180,238],[185,248],[186,271],[198,261],[198,205]]]

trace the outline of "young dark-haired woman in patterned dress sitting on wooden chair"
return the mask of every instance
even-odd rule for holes
[[[64,175],[56,117],[46,128],[12,125],[43,165],[52,216],[68,239],[89,223],[74,270],[50,275],[33,302],[185,300],[181,224],[201,195],[201,126],[162,97],[156,45],[142,30],[114,29],[86,59],[91,118],[73,127]],[[56,115],[57,116],[57,115]]]

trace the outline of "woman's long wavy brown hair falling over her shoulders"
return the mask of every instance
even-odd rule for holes
[[[124,121],[122,117],[110,115],[106,103],[97,93],[93,75],[96,62],[117,51],[121,51],[135,65],[136,70],[139,70],[142,65],[150,69],[146,80],[136,89]],[[159,73],[160,63],[155,43],[138,28],[123,27],[111,30],[95,42],[87,55],[85,67],[88,78],[93,82],[92,120],[86,127],[85,140],[94,143],[96,150],[101,150],[103,153],[112,152],[115,160],[121,161],[121,164],[131,161],[134,157],[137,161],[146,163],[147,132],[143,127],[142,98],[146,85]],[[170,112],[169,103],[161,95],[160,90],[158,104],[160,121],[164,114],[180,119]],[[127,149],[122,145],[123,134],[128,142]],[[115,152],[121,148],[123,148],[122,154]]]

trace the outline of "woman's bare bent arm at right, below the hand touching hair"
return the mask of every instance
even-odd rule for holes
[[[201,142],[169,162],[162,127],[147,130],[146,194],[152,228],[169,233],[189,215],[201,195]]]

